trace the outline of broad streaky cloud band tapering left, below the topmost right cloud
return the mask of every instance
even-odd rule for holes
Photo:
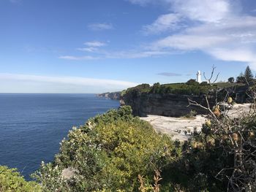
[[[222,23],[202,23],[154,42],[154,50],[201,50],[222,61],[245,62],[256,69],[256,18],[232,16]]]

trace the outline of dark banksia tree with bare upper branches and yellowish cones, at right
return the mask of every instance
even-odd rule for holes
[[[246,80],[244,75],[238,76]],[[239,78],[238,78],[239,79]],[[210,90],[209,90],[210,91]],[[228,108],[217,101],[211,107],[198,104],[189,99],[189,104],[208,110],[208,120],[200,133],[193,133],[189,145],[185,148],[184,168],[189,176],[191,191],[256,191],[256,90],[252,85],[247,94],[253,99],[252,111],[234,116],[229,115]],[[227,96],[230,93],[227,92]],[[227,100],[230,102],[231,97]],[[222,107],[220,107],[222,105]],[[214,110],[213,110],[214,109]],[[207,168],[211,165],[211,170]],[[185,174],[186,174],[185,172]],[[194,172],[194,175],[193,175]],[[220,182],[221,183],[220,183]],[[200,188],[195,188],[200,186]]]

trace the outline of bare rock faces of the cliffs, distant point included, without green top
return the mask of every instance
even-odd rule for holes
[[[241,86],[236,90],[230,88],[230,90],[222,89],[219,91],[219,99],[222,101],[222,97],[226,95],[226,91],[230,92],[230,96],[236,100],[237,103],[248,102],[249,98],[246,95],[248,87]],[[145,117],[146,115],[163,115],[167,117],[181,117],[189,114],[191,110],[197,112],[197,114],[208,114],[206,110],[200,107],[189,106],[188,98],[197,103],[207,106],[206,99],[203,95],[181,95],[181,94],[159,94],[159,93],[125,93],[121,96],[121,92],[102,93],[99,97],[105,97],[108,99],[120,100],[121,105],[129,105],[132,107],[133,115]],[[223,97],[223,98],[224,98]],[[210,106],[214,107],[215,99],[211,96],[208,99]]]

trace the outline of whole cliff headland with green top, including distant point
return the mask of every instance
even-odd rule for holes
[[[218,101],[225,100],[227,92],[236,103],[249,102],[246,95],[248,86],[225,84],[225,88],[218,89]],[[102,93],[98,96],[108,99],[120,100],[121,105],[132,107],[133,115],[145,117],[146,115],[162,115],[167,117],[181,117],[188,115],[192,110],[198,115],[208,114],[200,107],[189,106],[188,99],[197,101],[207,107],[205,95],[210,88],[205,85],[169,84],[150,86],[148,84],[128,88],[126,91]],[[210,107],[215,105],[215,94],[209,94]]]

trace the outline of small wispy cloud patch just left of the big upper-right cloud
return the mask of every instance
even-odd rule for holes
[[[143,26],[143,32],[145,34],[159,34],[165,31],[173,31],[180,28],[178,26],[180,21],[181,16],[178,14],[170,13],[160,15],[151,25]]]

